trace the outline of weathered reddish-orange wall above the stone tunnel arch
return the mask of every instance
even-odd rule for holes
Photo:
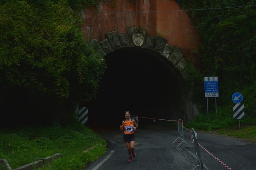
[[[200,37],[175,0],[107,1],[96,9],[84,9],[83,12],[87,41],[103,40],[105,34],[112,31],[125,34],[127,27],[140,25],[147,35],[160,35],[170,46],[180,48],[187,61],[195,65],[199,62],[194,51],[198,49]]]

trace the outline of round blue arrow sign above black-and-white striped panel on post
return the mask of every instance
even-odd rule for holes
[[[240,129],[240,119],[244,118],[244,104],[241,104],[243,100],[243,95],[239,92],[236,92],[232,95],[232,100],[235,103],[233,107],[233,118],[239,119],[239,129]]]

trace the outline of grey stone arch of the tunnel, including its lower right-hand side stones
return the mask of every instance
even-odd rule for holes
[[[177,46],[170,46],[167,44],[167,40],[163,37],[157,35],[156,37],[151,37],[146,35],[145,30],[141,29],[143,34],[143,43],[137,44],[133,41],[133,34],[136,27],[127,27],[126,34],[118,34],[117,31],[106,33],[106,38],[101,41],[96,39],[90,42],[94,46],[94,49],[99,52],[102,56],[107,55],[108,53],[117,51],[119,49],[125,48],[142,48],[152,52],[157,53],[158,55],[166,58],[167,62],[170,62],[183,76],[186,78],[186,66],[188,62],[184,58],[184,53]],[[191,101],[192,94],[183,94],[183,103],[184,103],[184,118],[190,120],[195,115],[198,115],[198,109],[195,104]]]

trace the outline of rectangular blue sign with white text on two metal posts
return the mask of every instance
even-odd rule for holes
[[[207,98],[207,115],[209,118],[208,98],[215,97],[215,112],[217,114],[218,77],[204,77],[204,96]]]

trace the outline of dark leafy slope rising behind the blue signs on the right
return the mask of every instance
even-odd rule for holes
[[[246,116],[256,117],[256,1],[176,0],[201,37],[200,73],[218,76],[218,106],[232,112],[234,92],[244,96]],[[195,84],[195,95],[204,88]],[[201,89],[200,89],[201,88]],[[196,96],[201,98],[199,95]],[[204,96],[203,96],[204,97]]]

